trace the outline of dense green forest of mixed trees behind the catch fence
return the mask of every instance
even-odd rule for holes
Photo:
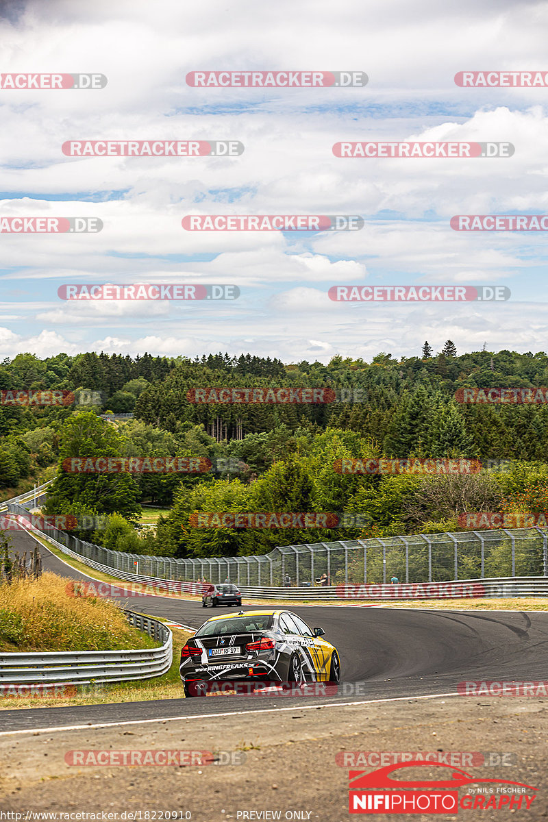
[[[458,531],[459,515],[471,511],[548,511],[546,404],[463,404],[462,389],[543,386],[544,352],[458,354],[450,340],[440,353],[425,343],[416,357],[379,353],[371,363],[284,364],[249,353],[22,353],[0,365],[0,391],[67,390],[74,402],[0,404],[0,488],[6,498],[29,478],[54,476],[44,513],[108,515],[106,529],[77,535],[159,556],[250,555],[275,545]],[[273,391],[305,401],[241,399]],[[110,422],[105,413],[132,416]],[[197,457],[210,469],[67,473],[63,462],[76,457]],[[341,459],[383,457],[465,458],[484,468],[451,476],[335,469]],[[143,504],[166,509],[146,533],[135,528]],[[288,528],[242,528],[197,518],[204,512],[329,517],[325,527],[318,518],[293,518]]]

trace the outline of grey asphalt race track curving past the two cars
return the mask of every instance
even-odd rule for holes
[[[13,547],[29,551],[35,541],[12,532]],[[44,570],[71,579],[85,576],[41,547]],[[90,569],[93,575],[93,570]],[[122,600],[125,607],[197,628],[212,615],[200,601],[142,596]],[[245,607],[253,607],[249,603]],[[311,626],[322,626],[341,659],[342,693],[329,704],[454,695],[464,680],[548,679],[548,612],[420,611],[398,608],[291,606]],[[227,608],[234,612],[233,608]],[[219,609],[214,613],[222,613]],[[345,693],[344,685],[360,683]],[[160,700],[2,711],[2,732],[96,723],[119,723],[168,717],[288,707],[283,697],[233,696],[194,700]],[[325,697],[306,697],[299,705],[326,704]],[[291,700],[293,702],[293,700]]]

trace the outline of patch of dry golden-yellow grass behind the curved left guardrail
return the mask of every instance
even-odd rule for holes
[[[117,605],[75,597],[55,574],[0,585],[0,650],[76,651],[154,648]]]

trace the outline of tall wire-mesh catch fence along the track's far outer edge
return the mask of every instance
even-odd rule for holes
[[[10,505],[11,514],[28,518],[28,511]],[[28,521],[28,520],[27,520]],[[36,530],[33,526],[33,529]],[[229,579],[247,597],[283,599],[338,598],[338,585],[356,586],[358,598],[373,580],[386,586],[395,576],[405,585],[454,584],[473,580],[536,580],[539,590],[548,578],[548,531],[540,528],[412,534],[405,537],[347,540],[337,543],[286,545],[262,556],[174,559],[111,551],[85,543],[48,524],[39,532],[60,550],[85,565],[122,580],[166,584],[200,593],[200,579],[222,583]],[[329,586],[317,583],[319,577]],[[459,579],[460,577],[460,579]],[[285,583],[289,581],[287,586]],[[306,584],[302,584],[305,582]],[[399,584],[399,583],[398,583]],[[189,586],[187,589],[186,586]],[[375,586],[375,598],[392,598],[394,589]],[[531,589],[531,584],[528,584]],[[402,597],[417,593],[402,590]],[[525,589],[523,589],[525,590]],[[531,589],[532,590],[532,589]],[[511,594],[507,594],[511,595]],[[518,595],[518,594],[516,594]],[[519,595],[525,595],[519,594]],[[532,593],[532,595],[545,595]]]

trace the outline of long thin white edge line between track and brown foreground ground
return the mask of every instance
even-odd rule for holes
[[[254,711],[225,711],[223,713],[196,713],[191,716],[158,717],[155,719],[129,719],[124,722],[105,722],[86,725],[60,725],[59,727],[30,727],[21,731],[0,731],[0,737],[12,737],[21,733],[56,733],[58,731],[92,731],[99,727],[122,727],[122,725],[150,725],[151,723],[180,722],[182,719],[216,719],[218,717],[246,716],[249,713],[278,713],[279,711],[311,711],[317,708],[348,708],[354,705],[371,705],[380,702],[410,702],[413,700],[435,700],[441,696],[461,696],[456,691],[450,694],[424,694],[420,696],[389,696],[383,700],[360,700],[359,702],[325,702],[315,705],[291,705],[288,708],[265,708]]]

